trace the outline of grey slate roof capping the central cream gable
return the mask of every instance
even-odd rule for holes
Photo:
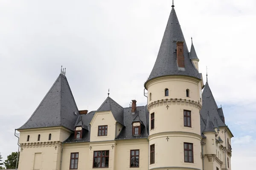
[[[120,124],[124,125],[123,107],[115,102],[111,97],[107,97],[102,105],[98,108],[99,111],[111,111],[115,120]]]

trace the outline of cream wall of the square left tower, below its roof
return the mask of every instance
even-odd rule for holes
[[[34,167],[35,153],[41,153],[40,170],[59,170],[61,156],[61,142],[70,136],[70,130],[64,127],[44,127],[20,131],[20,170],[32,170]],[[51,140],[49,133],[52,134]],[[38,141],[38,134],[41,135]],[[29,141],[27,142],[27,136]]]

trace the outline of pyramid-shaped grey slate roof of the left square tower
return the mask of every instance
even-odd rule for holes
[[[38,108],[21,129],[64,126],[74,130],[79,115],[67,78],[60,74]]]

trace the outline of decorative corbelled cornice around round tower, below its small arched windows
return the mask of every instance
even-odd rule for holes
[[[162,105],[188,105],[201,110],[202,105],[200,101],[196,102],[194,100],[187,100],[187,99],[161,99],[148,104],[148,110],[152,108],[156,108]]]

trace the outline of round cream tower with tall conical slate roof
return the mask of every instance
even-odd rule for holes
[[[201,170],[202,78],[172,11],[145,89],[150,114],[149,170]]]

